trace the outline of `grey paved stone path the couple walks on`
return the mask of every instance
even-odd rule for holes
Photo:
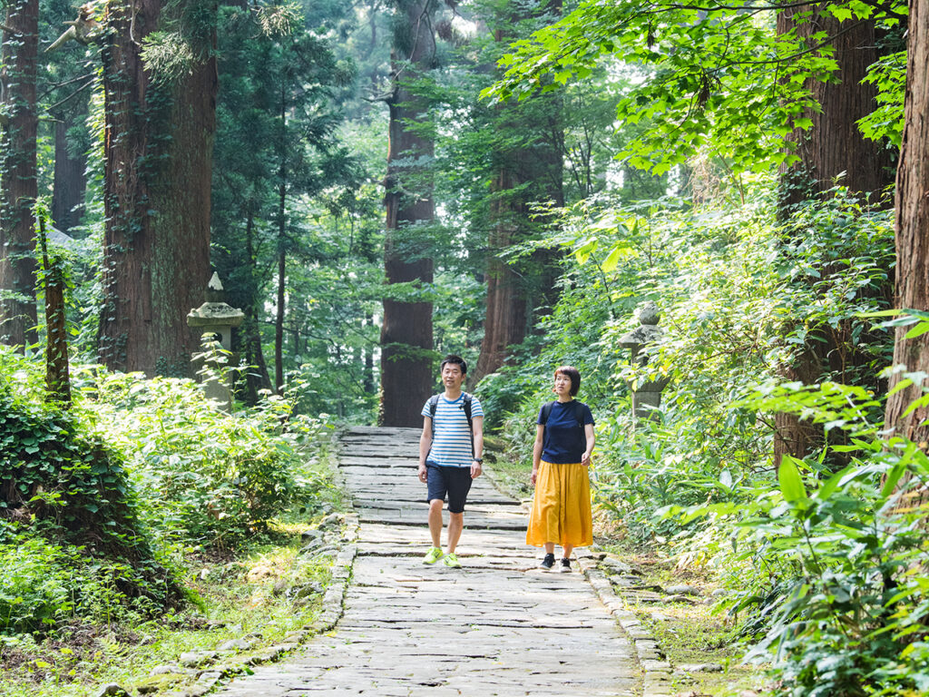
[[[299,654],[219,694],[639,694],[635,651],[607,608],[580,572],[536,569],[526,514],[486,477],[464,512],[464,568],[422,563],[430,542],[418,439],[414,428],[347,433],[340,467],[360,533],[345,614]]]

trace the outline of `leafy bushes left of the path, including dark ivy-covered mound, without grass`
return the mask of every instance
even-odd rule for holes
[[[63,413],[39,368],[0,349],[0,632],[157,615],[184,595],[183,549],[318,503],[303,461],[322,425],[291,401],[221,414],[191,381],[72,366]]]

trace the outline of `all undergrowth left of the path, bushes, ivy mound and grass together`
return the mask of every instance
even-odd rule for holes
[[[65,410],[33,362],[0,363],[0,693],[179,689],[182,654],[312,623],[344,506],[324,421],[273,397],[222,414],[192,381],[98,366],[72,370]]]

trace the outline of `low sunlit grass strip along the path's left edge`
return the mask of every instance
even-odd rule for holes
[[[124,615],[92,625],[73,620],[44,638],[0,636],[0,694],[4,697],[88,697],[117,683],[130,690],[157,683],[179,690],[195,676],[149,677],[152,668],[176,664],[186,651],[214,651],[248,637],[254,649],[281,641],[321,612],[332,555],[304,555],[301,533],[342,507],[334,487],[321,492],[315,514],[292,514],[236,554],[191,553],[181,560],[191,602],[155,619]],[[290,588],[305,593],[289,596]]]

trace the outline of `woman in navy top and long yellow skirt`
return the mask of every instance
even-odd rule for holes
[[[526,544],[545,547],[543,569],[555,565],[555,546],[562,549],[559,572],[571,570],[571,550],[594,542],[587,467],[594,452],[594,416],[574,396],[581,388],[577,368],[562,365],[555,371],[557,401],[539,412],[532,448],[535,496]]]

